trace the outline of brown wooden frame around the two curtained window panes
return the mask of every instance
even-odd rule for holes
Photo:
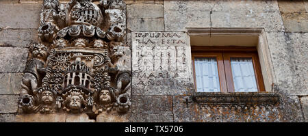
[[[258,92],[265,92],[264,80],[257,49],[246,46],[192,46],[192,66],[194,74],[194,87],[196,88],[196,71],[194,65],[195,57],[216,57],[218,76],[220,81],[220,92],[235,92],[233,75],[231,70],[231,57],[250,57],[253,60],[253,69],[257,82]]]

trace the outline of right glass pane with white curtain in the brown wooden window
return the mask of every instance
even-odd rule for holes
[[[235,92],[257,92],[253,59],[231,57],[230,60]]]

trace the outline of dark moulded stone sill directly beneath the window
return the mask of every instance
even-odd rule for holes
[[[275,105],[279,95],[270,92],[196,92],[192,100],[203,105]]]

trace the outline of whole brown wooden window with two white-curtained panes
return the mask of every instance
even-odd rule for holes
[[[197,92],[265,92],[255,47],[192,46]]]

